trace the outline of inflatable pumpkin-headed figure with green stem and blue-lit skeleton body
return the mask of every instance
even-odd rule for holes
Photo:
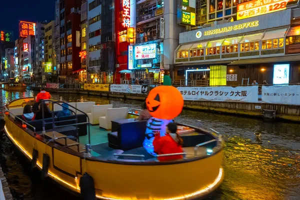
[[[155,155],[154,131],[159,131],[161,137],[165,135],[166,125],[173,122],[173,118],[182,111],[183,97],[176,87],[171,86],[170,77],[165,75],[163,85],[150,90],[146,98],[146,106],[152,117],[146,123],[143,147],[148,153]]]

